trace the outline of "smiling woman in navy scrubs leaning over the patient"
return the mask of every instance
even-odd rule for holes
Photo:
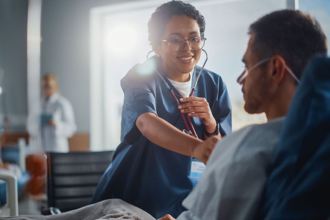
[[[196,65],[205,41],[205,20],[195,7],[165,3],[152,14],[148,28],[156,55],[121,80],[122,142],[92,203],[118,198],[158,219],[184,211],[182,200],[200,174],[193,166],[208,160],[218,140],[213,136],[231,133],[231,106],[221,77],[208,70],[203,70],[194,97],[187,97],[201,70]],[[179,107],[156,71],[177,95]],[[200,139],[182,132],[180,112],[189,113]]]

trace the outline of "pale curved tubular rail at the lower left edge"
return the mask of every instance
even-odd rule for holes
[[[6,182],[6,200],[7,203],[1,207],[0,216],[18,215],[18,198],[17,198],[17,178],[11,173],[0,173],[0,179]],[[8,213],[9,209],[9,213]]]

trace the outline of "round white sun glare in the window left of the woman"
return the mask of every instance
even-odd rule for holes
[[[107,32],[104,39],[106,47],[116,53],[131,51],[137,44],[137,31],[129,24],[118,24]]]

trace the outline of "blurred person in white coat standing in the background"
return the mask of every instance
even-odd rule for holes
[[[72,105],[58,93],[54,74],[42,77],[41,88],[41,110],[28,116],[30,139],[32,142],[39,140],[43,151],[68,152],[68,138],[77,130]]]

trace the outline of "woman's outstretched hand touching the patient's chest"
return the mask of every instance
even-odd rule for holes
[[[196,157],[199,161],[202,161],[203,163],[206,164],[213,151],[213,148],[215,147],[215,144],[219,140],[220,137],[212,136],[206,139],[206,141],[201,142],[195,147],[193,152],[193,157]]]

